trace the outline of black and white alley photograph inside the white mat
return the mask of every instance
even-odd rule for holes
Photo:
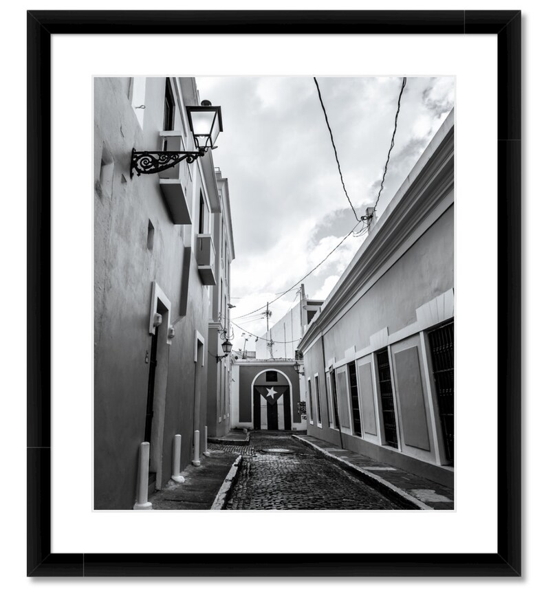
[[[455,509],[455,76],[93,81],[94,509]]]

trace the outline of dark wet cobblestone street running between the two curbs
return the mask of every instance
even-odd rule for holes
[[[404,509],[291,434],[252,432],[226,509]]]

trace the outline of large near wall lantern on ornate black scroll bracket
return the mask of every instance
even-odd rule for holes
[[[184,159],[191,164],[198,157],[203,157],[209,149],[215,149],[215,142],[222,126],[221,107],[213,107],[209,100],[203,100],[201,106],[186,107],[190,131],[197,151],[133,151],[131,153],[131,170],[129,175],[157,174],[173,168]]]

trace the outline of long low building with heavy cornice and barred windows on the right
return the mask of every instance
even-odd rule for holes
[[[307,431],[453,485],[454,114],[309,325]]]

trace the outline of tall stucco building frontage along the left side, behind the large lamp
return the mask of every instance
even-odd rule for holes
[[[131,170],[133,148],[195,151],[192,104],[194,78],[94,80],[95,509],[131,509],[143,441],[151,491],[171,477],[176,434],[182,468],[195,430],[204,450],[210,307],[224,278],[214,235],[228,193],[210,151],[159,174]],[[224,267],[232,238],[230,248]]]

